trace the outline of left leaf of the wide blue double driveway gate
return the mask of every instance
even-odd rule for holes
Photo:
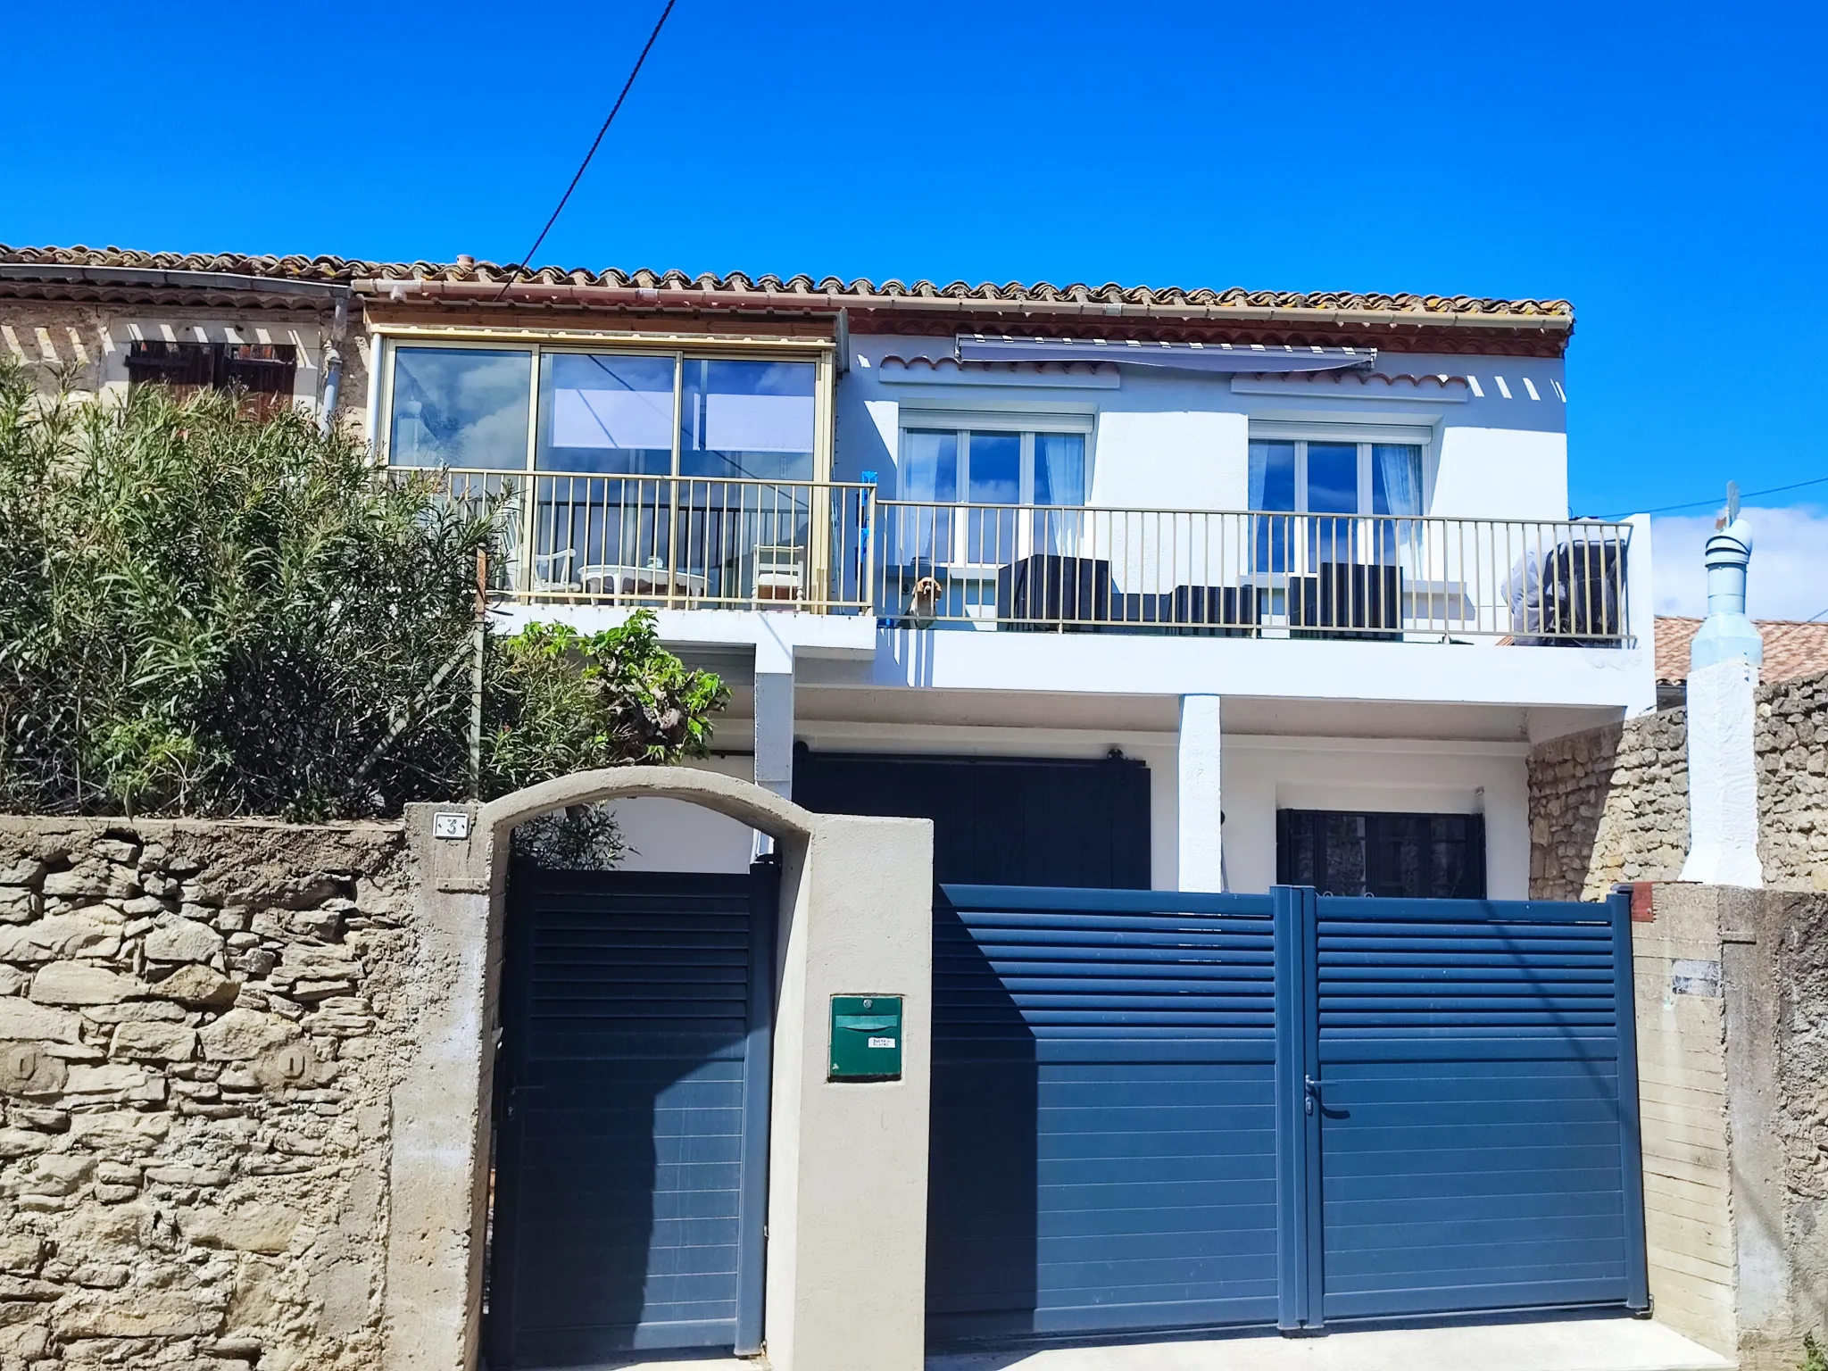
[[[1274,1322],[1269,898],[947,896],[930,1336]]]

